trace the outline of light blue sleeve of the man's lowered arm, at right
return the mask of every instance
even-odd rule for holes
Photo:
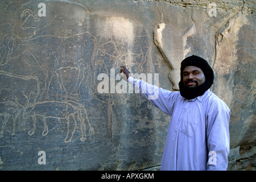
[[[207,115],[207,170],[224,171],[228,168],[229,119],[230,110],[225,103],[216,101],[210,106]]]

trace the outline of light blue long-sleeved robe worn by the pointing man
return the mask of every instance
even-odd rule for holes
[[[229,107],[209,89],[187,100],[129,77],[135,93],[171,115],[161,170],[226,170],[229,154]]]

